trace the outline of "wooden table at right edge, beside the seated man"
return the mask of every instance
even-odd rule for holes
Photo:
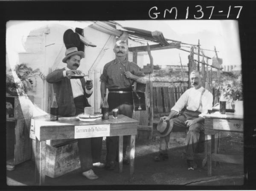
[[[234,113],[221,114],[218,111],[204,115],[204,133],[207,141],[207,175],[212,176],[212,161],[229,162],[243,164],[243,155],[219,154],[215,142],[212,145],[212,136],[214,139],[219,136],[221,131],[244,132],[243,116]],[[213,153],[212,153],[213,146]]]

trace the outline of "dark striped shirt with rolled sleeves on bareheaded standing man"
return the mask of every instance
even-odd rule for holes
[[[130,71],[133,75],[145,76],[140,67],[127,59],[119,62],[116,59],[105,64],[100,81],[106,82],[106,87],[111,89],[129,88],[133,80],[125,77],[125,72]]]

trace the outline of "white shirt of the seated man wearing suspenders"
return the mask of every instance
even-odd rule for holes
[[[180,96],[175,106],[173,106],[171,110],[180,112],[186,106],[186,103],[187,103],[187,107],[186,107],[187,110],[190,110],[190,111],[198,110],[199,112],[201,112],[199,117],[203,117],[203,115],[206,114],[208,110],[212,109],[212,102],[213,102],[212,93],[210,93],[208,90],[205,90],[202,96],[202,107],[201,106],[199,107],[200,98],[203,90],[204,90],[203,87],[199,88],[198,90],[196,90],[194,87],[189,88]]]

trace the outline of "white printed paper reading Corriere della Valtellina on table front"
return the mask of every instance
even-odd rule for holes
[[[110,124],[75,125],[75,139],[110,135]]]

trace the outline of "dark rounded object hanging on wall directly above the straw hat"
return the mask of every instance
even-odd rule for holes
[[[72,29],[67,29],[63,35],[63,41],[66,46],[66,49],[72,47],[78,47],[80,45],[80,37],[79,34],[73,32]]]

